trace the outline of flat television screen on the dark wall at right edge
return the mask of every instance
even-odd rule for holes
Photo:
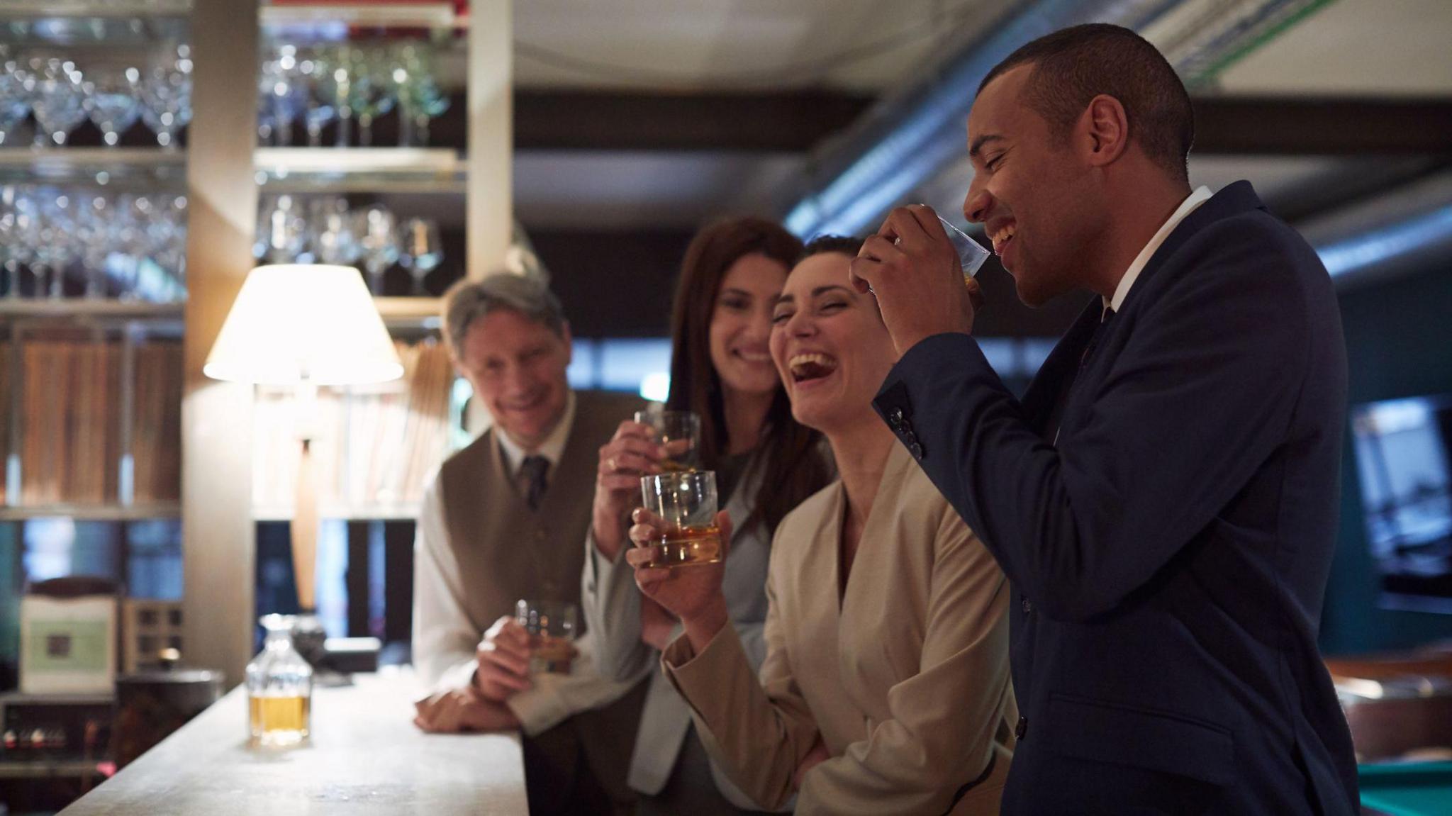
[[[1352,408],[1381,605],[1452,613],[1452,395]]]

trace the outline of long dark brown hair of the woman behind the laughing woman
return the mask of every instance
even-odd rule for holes
[[[671,311],[671,393],[666,408],[701,415],[701,466],[716,469],[730,449],[722,382],[711,364],[710,328],[726,272],[746,256],[765,256],[790,269],[802,241],[761,218],[727,218],[707,225],[691,238],[681,261],[681,277]],[[764,456],[761,482],[751,517],[771,533],[803,499],[822,489],[832,472],[822,454],[822,434],[791,418],[787,392],[777,388],[767,412],[765,437],[756,446]]]

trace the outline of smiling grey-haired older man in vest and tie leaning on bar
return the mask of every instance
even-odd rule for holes
[[[569,675],[533,682],[513,611],[579,603],[597,452],[640,401],[569,389],[569,325],[531,279],[456,285],[444,338],[494,425],[440,466],[420,514],[414,662],[437,694],[418,725],[517,726],[531,813],[621,812],[645,685],[594,672],[588,633]]]

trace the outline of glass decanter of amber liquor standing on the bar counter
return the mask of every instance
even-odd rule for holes
[[[263,650],[247,664],[248,729],[254,745],[287,746],[308,739],[312,666],[292,645],[290,614],[267,614]]]

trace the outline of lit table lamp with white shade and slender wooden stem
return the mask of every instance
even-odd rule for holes
[[[298,605],[314,611],[318,489],[312,470],[319,385],[398,379],[404,364],[359,270],[348,266],[272,264],[247,274],[202,372],[219,380],[295,386],[298,485],[292,562]]]

